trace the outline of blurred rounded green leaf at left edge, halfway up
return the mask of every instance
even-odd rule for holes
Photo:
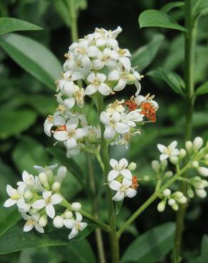
[[[14,112],[0,112],[4,125],[0,126],[0,139],[18,135],[31,127],[36,121],[36,113],[29,109],[16,109]]]

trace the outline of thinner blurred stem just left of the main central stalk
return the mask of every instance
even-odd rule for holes
[[[98,198],[96,198],[96,187],[95,187],[95,177],[93,172],[93,163],[90,154],[87,154],[88,159],[88,170],[89,170],[89,183],[90,183],[90,190],[92,191],[92,204],[93,204],[93,215],[95,218],[99,218],[99,209],[98,209]],[[105,252],[103,247],[103,237],[102,232],[99,228],[95,229],[95,239],[98,249],[98,257],[100,263],[105,263]]]

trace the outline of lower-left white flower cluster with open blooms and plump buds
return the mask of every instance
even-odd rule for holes
[[[9,185],[6,186],[9,199],[4,203],[4,207],[9,208],[12,205],[17,205],[19,213],[26,220],[24,232],[29,232],[34,227],[38,232],[43,233],[43,227],[46,227],[48,224],[48,218],[52,218],[53,225],[57,227],[56,222],[59,216],[55,217],[56,210],[54,206],[61,204],[63,201],[60,190],[61,183],[66,177],[66,167],[60,166],[56,175],[54,175],[53,169],[56,167],[57,165],[44,168],[34,166],[38,171],[38,176],[33,176],[24,171],[22,173],[22,181],[17,183],[18,187],[16,189]],[[72,203],[71,205],[72,211],[78,211],[80,208],[80,203]],[[66,227],[72,229],[69,235],[70,239],[78,234],[78,230],[83,230],[87,225],[85,222],[81,222],[82,216],[78,212],[76,212],[76,220],[73,218],[73,213],[69,210],[65,211],[64,217]],[[71,220],[71,227],[67,223],[68,220]]]

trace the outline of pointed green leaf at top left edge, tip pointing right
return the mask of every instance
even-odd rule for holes
[[[42,30],[43,28],[11,17],[0,18],[0,35],[14,31]]]

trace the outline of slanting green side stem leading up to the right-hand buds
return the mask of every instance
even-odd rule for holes
[[[134,220],[149,206],[151,205],[151,203],[153,203],[155,201],[155,199],[157,199],[158,195],[160,195],[160,193],[162,193],[163,190],[165,190],[166,188],[170,187],[170,185],[172,183],[174,183],[175,181],[177,181],[178,178],[180,178],[180,176],[187,171],[187,169],[189,168],[190,164],[187,163],[186,166],[184,166],[184,168],[182,168],[182,170],[178,171],[177,173],[175,173],[175,176],[172,176],[172,178],[170,178],[169,181],[167,181],[167,183],[165,183],[159,190],[155,190],[155,192],[150,196],[150,198],[148,198],[146,200],[145,203],[143,203],[143,205],[140,206],[140,208],[138,208],[135,213],[133,213],[130,218],[125,222],[125,224],[120,227],[120,230],[118,230],[118,236],[120,237],[120,235],[123,233],[123,231],[125,231],[125,229],[132,224],[132,222],[134,222]]]

